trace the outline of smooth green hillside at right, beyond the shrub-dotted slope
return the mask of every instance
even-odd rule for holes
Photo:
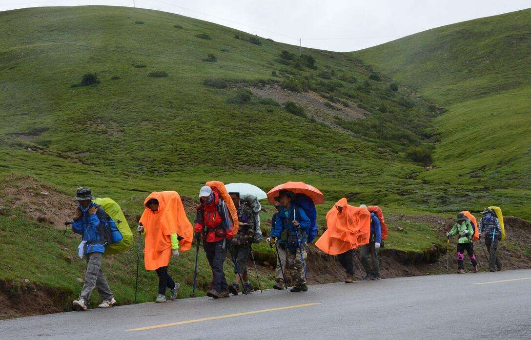
[[[410,85],[448,111],[435,119],[437,167],[419,178],[485,187],[520,201],[529,219],[531,189],[531,10],[413,34],[354,56]]]

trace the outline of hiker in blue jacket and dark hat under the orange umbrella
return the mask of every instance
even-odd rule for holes
[[[306,292],[308,286],[303,260],[307,254],[306,239],[311,221],[304,210],[295,205],[294,198],[292,191],[280,191],[276,200],[281,207],[276,216],[275,228],[271,228],[267,241],[275,244],[280,238],[280,241],[286,242],[287,269],[294,285],[290,292]]]

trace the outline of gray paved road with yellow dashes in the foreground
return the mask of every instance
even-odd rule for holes
[[[530,316],[526,269],[57,313],[0,321],[0,339],[530,339]]]

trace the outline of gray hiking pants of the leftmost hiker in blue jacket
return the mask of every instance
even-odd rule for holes
[[[105,278],[105,275],[101,269],[101,258],[103,253],[93,252],[92,254],[85,255],[87,260],[87,273],[85,273],[85,283],[81,290],[80,296],[87,301],[90,301],[90,293],[94,287],[98,289],[98,293],[104,301],[110,301],[113,298],[113,292],[110,291],[109,284]]]

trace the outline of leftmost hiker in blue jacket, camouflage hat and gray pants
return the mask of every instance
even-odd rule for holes
[[[101,259],[105,252],[105,228],[107,226],[107,214],[102,207],[92,202],[96,197],[92,196],[90,188],[81,187],[76,190],[74,201],[79,205],[74,212],[72,231],[83,236],[78,247],[79,257],[85,257],[87,272],[81,294],[72,306],[77,310],[87,310],[90,303],[90,294],[96,287],[103,300],[99,308],[112,307],[116,303],[114,294],[110,290],[103,269]]]

